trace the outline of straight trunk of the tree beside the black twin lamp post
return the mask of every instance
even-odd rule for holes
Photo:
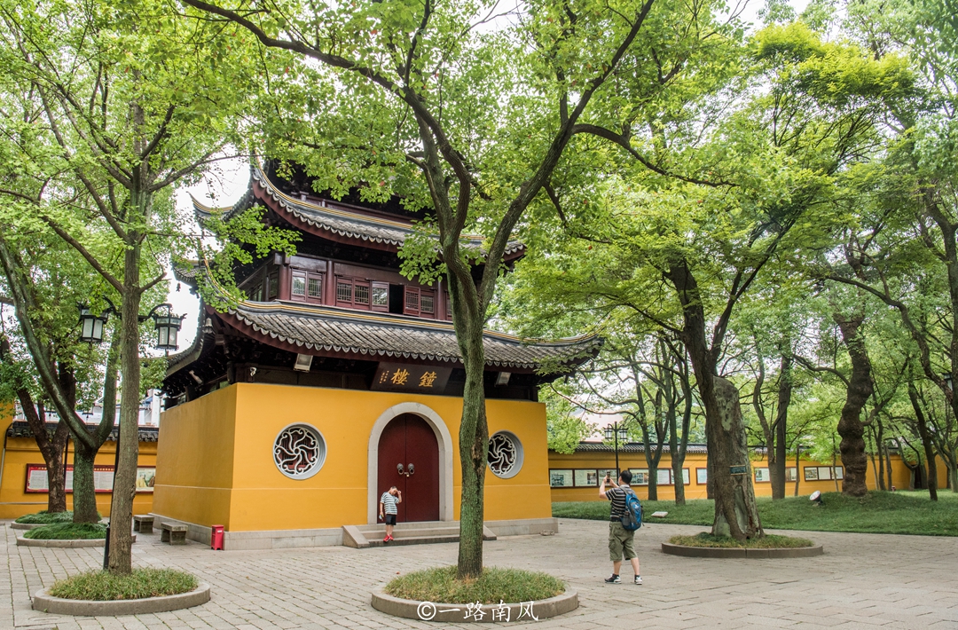
[[[146,216],[144,212],[144,216]],[[126,574],[132,570],[133,497],[136,494],[136,467],[140,455],[140,245],[127,245],[124,260],[124,286],[120,325],[120,436],[117,440],[117,469],[113,476],[110,507],[109,571]]]

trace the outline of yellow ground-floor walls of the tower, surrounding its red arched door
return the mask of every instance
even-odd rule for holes
[[[458,518],[461,398],[263,384],[229,385],[164,411],[153,511],[228,531],[365,524],[370,433],[401,403],[422,404],[445,422]],[[487,413],[490,434],[513,432],[524,461],[513,478],[487,474],[486,519],[551,517],[545,406],[490,400]],[[276,436],[295,423],[315,427],[326,440],[323,467],[308,479],[285,477],[273,461]]]

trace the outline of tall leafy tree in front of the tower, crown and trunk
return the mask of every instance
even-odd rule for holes
[[[269,151],[304,164],[314,187],[362,184],[367,198],[399,192],[434,210],[422,232],[439,251],[423,239],[401,255],[407,275],[445,273],[452,299],[467,375],[458,576],[478,575],[489,439],[482,332],[503,253],[549,194],[577,126],[612,106],[593,103],[611,98],[616,82],[661,89],[668,79],[650,48],[693,50],[686,44],[709,7],[546,0],[498,15],[470,2],[185,2],[320,64],[305,67],[308,88],[290,87],[303,115],[284,119]],[[502,28],[484,28],[490,21]],[[481,251],[464,243],[467,229],[487,236]]]

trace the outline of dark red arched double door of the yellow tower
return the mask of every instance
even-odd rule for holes
[[[394,485],[402,492],[399,523],[439,521],[439,442],[426,421],[412,413],[390,420],[379,436],[376,514],[379,497]]]

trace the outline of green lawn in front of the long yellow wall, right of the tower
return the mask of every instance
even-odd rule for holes
[[[876,534],[920,534],[958,536],[958,494],[939,492],[939,501],[928,492],[869,492],[861,498],[830,492],[822,495],[823,505],[814,506],[809,497],[787,497],[772,501],[760,497],[759,516],[768,529],[803,531],[854,531]],[[608,520],[608,502],[556,502],[553,516],[566,519]],[[697,499],[676,505],[669,501],[644,501],[646,521],[673,525],[711,526],[714,502]],[[667,511],[664,519],[652,519],[652,512]]]

